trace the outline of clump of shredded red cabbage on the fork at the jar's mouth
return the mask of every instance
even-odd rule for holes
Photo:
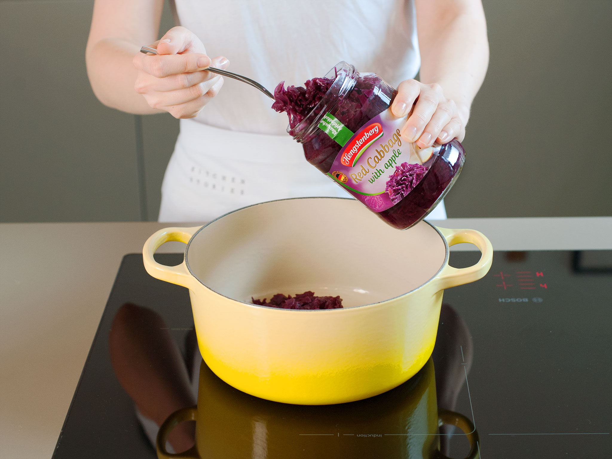
[[[285,89],[285,81],[281,81],[274,89],[272,108],[279,113],[284,111],[289,116],[289,127],[293,129],[321,102],[333,83],[332,78],[313,78],[304,83],[305,88],[288,86]]]

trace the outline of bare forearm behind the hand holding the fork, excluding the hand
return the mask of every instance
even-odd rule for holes
[[[95,96],[106,106],[135,114],[162,113],[151,108],[134,89],[137,70],[132,63],[138,45],[121,39],[102,39],[88,45],[87,73]]]

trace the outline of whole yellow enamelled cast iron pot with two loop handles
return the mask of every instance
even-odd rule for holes
[[[153,254],[187,243],[184,262]],[[474,266],[449,266],[469,242]],[[166,228],[143,248],[153,277],[189,289],[200,352],[223,381],[256,397],[326,405],[382,394],[423,367],[445,288],[487,274],[493,248],[474,230],[382,225],[356,200],[299,198],[244,207],[194,228]],[[312,290],[344,308],[285,310],[251,297]]]

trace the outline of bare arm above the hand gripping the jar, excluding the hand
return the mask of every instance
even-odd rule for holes
[[[417,0],[420,81],[438,83],[467,122],[487,73],[487,23],[480,0]]]

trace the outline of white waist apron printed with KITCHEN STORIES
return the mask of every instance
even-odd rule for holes
[[[163,179],[159,220],[207,222],[251,204],[306,196],[348,193],[310,165],[288,134],[230,131],[184,119]]]

